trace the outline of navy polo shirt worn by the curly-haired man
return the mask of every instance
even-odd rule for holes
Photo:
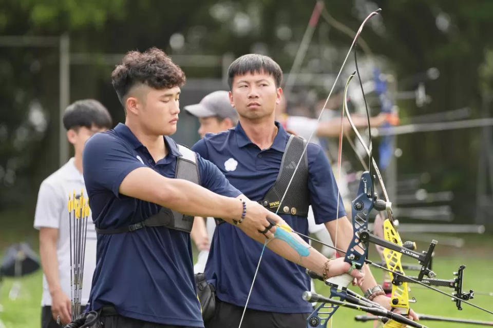
[[[165,136],[164,141],[168,154],[157,163],[123,124],[97,133],[87,141],[83,156],[84,181],[96,227],[126,226],[159,211],[159,205],[119,194],[118,189],[125,176],[140,167],[149,167],[168,178],[175,177],[176,160],[181,154],[172,138]],[[210,161],[197,156],[197,163],[204,188],[225,196],[240,194]],[[113,304],[125,317],[203,327],[188,233],[153,227],[131,233],[98,235],[96,257],[90,309]]]

